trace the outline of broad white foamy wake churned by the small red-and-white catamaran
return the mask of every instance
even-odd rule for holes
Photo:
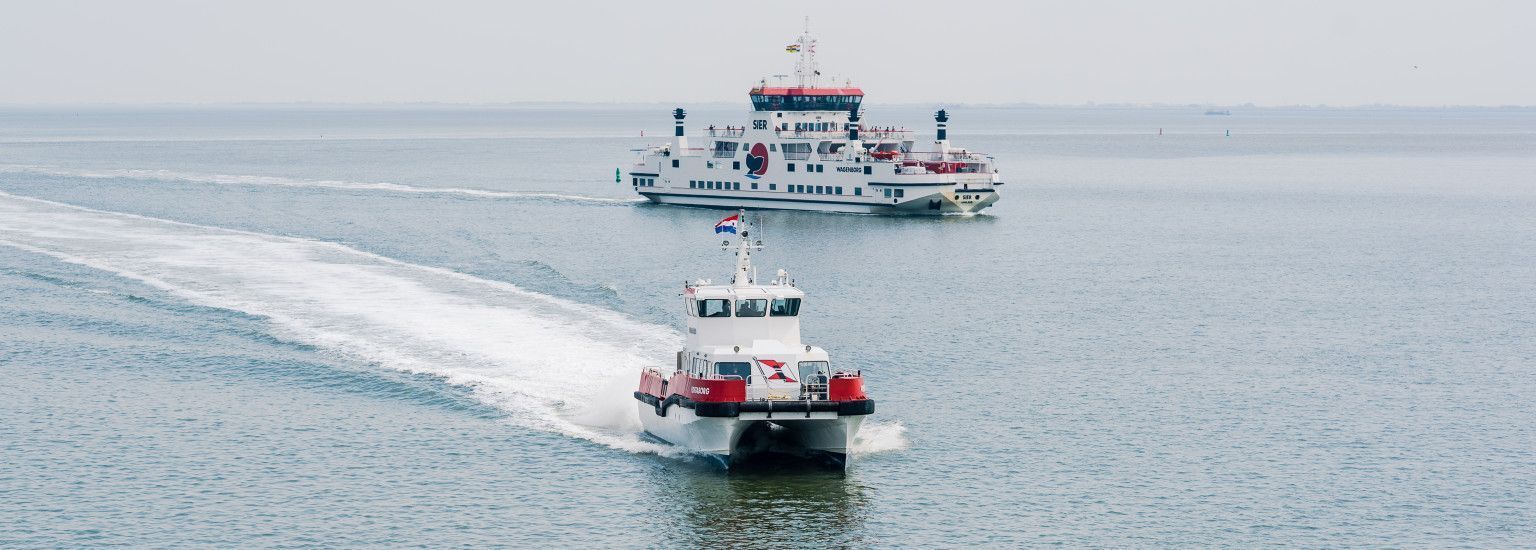
[[[343,244],[95,210],[0,192],[0,244],[260,315],[280,338],[470,389],[521,426],[616,449],[674,453],[637,436],[642,367],[680,336],[510,283]],[[903,446],[866,426],[856,452]]]

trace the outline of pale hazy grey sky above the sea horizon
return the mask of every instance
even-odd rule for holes
[[[805,17],[880,103],[1536,104],[1519,0],[0,0],[0,103],[742,103]]]

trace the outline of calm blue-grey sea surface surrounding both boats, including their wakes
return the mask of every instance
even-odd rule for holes
[[[879,407],[727,475],[670,108],[0,109],[0,545],[1536,544],[1536,111],[954,108],[985,215],[765,214]]]

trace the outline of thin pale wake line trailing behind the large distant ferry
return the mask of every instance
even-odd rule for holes
[[[0,166],[0,172],[41,174],[41,175],[57,175],[66,178],[212,183],[226,186],[318,187],[318,189],[344,189],[344,191],[379,191],[379,192],[418,194],[418,195],[551,200],[551,201],[598,203],[598,204],[634,204],[645,201],[644,198],[587,197],[587,195],[570,195],[570,194],[554,194],[554,192],[539,192],[539,191],[524,192],[524,191],[487,191],[487,189],[468,189],[468,187],[418,187],[418,186],[407,186],[402,183],[387,183],[387,181],[295,180],[295,178],[281,178],[270,175],[187,174],[175,171],[144,171],[144,169],[65,171],[48,166],[6,164]]]

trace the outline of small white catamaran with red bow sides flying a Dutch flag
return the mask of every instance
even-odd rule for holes
[[[863,375],[833,369],[826,350],[800,341],[805,292],[782,269],[757,284],[751,252],[762,241],[750,240],[745,215],[722,220],[716,232],[734,234],[737,226],[730,284],[684,286],[684,349],[671,372],[641,375],[641,424],[651,436],[725,464],[740,458],[743,438],[760,438],[846,467],[849,444],[874,413]]]

